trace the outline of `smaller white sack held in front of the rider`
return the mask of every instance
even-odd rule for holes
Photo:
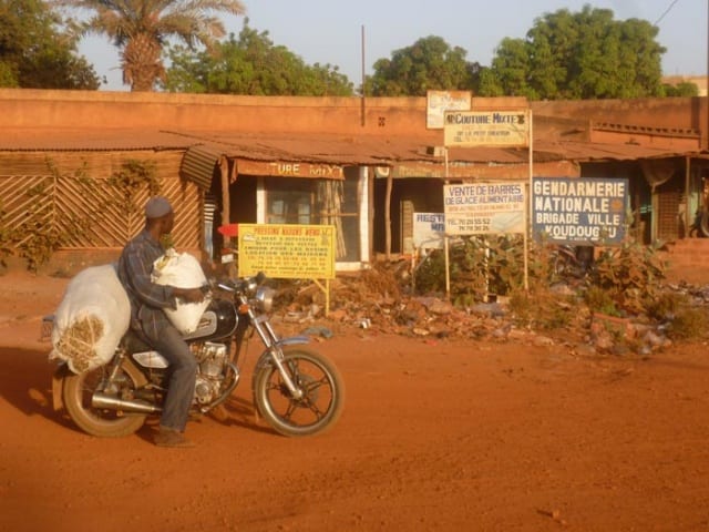
[[[188,253],[168,250],[153,264],[153,283],[176,286],[177,288],[198,288],[207,283],[199,262]],[[183,335],[194,332],[202,315],[209,305],[208,299],[201,303],[177,300],[177,308],[165,308],[165,314],[175,328]]]

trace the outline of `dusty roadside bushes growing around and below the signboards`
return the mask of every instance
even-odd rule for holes
[[[596,316],[659,327],[672,340],[706,338],[708,308],[689,290],[668,289],[661,247],[628,237],[620,246],[597,248],[588,264],[567,257],[573,264],[559,265],[558,246],[533,243],[525,288],[521,238],[464,237],[450,249],[450,299],[459,308],[504,300],[516,326],[536,330],[565,329],[579,316]],[[445,296],[442,250],[424,257],[413,275],[413,296]]]

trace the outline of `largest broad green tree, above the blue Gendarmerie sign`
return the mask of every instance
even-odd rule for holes
[[[535,20],[526,39],[504,39],[481,94],[532,100],[646,98],[662,94],[666,49],[657,27],[614,20],[607,9],[561,9]]]

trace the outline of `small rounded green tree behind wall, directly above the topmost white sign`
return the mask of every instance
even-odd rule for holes
[[[374,63],[367,93],[374,96],[424,96],[428,90],[472,90],[480,65],[465,61],[467,52],[430,35],[395,50]]]

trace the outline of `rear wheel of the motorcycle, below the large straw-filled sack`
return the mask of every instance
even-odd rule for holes
[[[106,378],[107,367],[103,366],[81,375],[64,378],[62,399],[72,421],[92,436],[121,438],[137,431],[147,416],[141,413],[120,415],[116,410],[96,409],[91,406],[91,397]],[[145,383],[143,375],[132,365],[123,365],[119,378],[124,378],[123,387],[135,390]]]

